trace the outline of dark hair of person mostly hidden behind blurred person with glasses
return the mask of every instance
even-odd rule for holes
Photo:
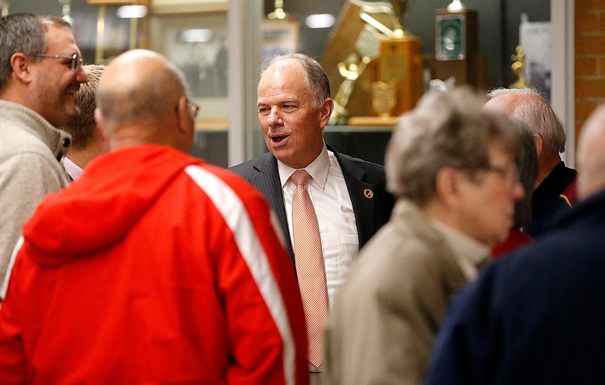
[[[512,118],[512,126],[517,129],[519,149],[515,156],[515,165],[519,173],[519,182],[523,186],[523,199],[515,202],[514,228],[525,227],[531,222],[532,196],[535,181],[538,178],[538,154],[535,149],[531,129],[520,119]]]

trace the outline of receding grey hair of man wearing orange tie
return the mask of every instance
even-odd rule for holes
[[[302,69],[305,73],[305,82],[307,88],[313,98],[312,105],[315,109],[320,109],[324,105],[325,98],[330,97],[330,80],[324,71],[324,68],[319,62],[310,56],[302,53],[287,53],[279,56],[273,56],[270,59],[265,60],[260,66],[260,80],[263,77],[267,68],[273,63],[280,62],[281,60],[293,60],[302,65]]]

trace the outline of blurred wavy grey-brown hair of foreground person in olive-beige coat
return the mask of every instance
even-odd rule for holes
[[[416,108],[402,115],[388,143],[388,189],[422,206],[434,197],[437,174],[444,167],[476,177],[491,166],[491,143],[502,144],[514,156],[518,135],[510,119],[483,110],[483,103],[468,88],[427,92]]]

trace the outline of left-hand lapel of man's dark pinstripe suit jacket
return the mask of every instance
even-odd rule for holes
[[[281,191],[277,160],[272,154],[267,153],[259,157],[253,167],[258,170],[258,174],[250,178],[250,183],[257,187],[271,205],[273,212],[275,212],[280,222],[281,231],[285,238],[286,251],[293,258],[294,251],[290,242],[290,231],[286,219],[286,209],[284,208],[284,197]]]

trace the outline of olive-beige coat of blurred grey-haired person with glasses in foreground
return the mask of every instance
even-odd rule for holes
[[[443,233],[399,199],[333,304],[325,332],[327,383],[422,383],[439,325],[465,282]]]

